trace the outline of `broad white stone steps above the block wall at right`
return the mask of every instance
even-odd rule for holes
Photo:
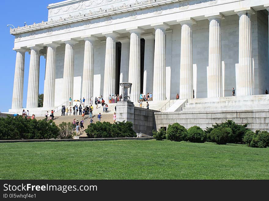
[[[188,99],[182,111],[262,110],[269,109],[269,95],[229,96]]]

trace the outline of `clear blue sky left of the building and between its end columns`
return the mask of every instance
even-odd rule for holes
[[[60,2],[60,0],[4,0],[1,1],[1,48],[0,48],[0,69],[1,79],[0,86],[2,95],[0,98],[0,111],[7,112],[11,108],[13,82],[15,72],[16,51],[12,50],[14,47],[14,36],[9,33],[7,24],[13,24],[15,27],[24,26],[27,24],[39,23],[42,20],[48,20],[47,6],[50,3]],[[24,66],[24,91],[23,91],[23,107],[26,106],[27,87],[28,87],[28,73],[29,73],[30,55],[25,54]],[[44,91],[44,77],[45,77],[45,59],[40,57],[40,75],[39,75],[39,93]]]

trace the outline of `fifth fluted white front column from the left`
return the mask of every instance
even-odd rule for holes
[[[85,40],[84,46],[84,65],[82,79],[82,98],[86,104],[90,102],[90,97],[94,92],[94,49],[93,43],[97,38],[93,35],[82,37]]]

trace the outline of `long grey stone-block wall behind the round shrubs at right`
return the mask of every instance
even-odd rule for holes
[[[195,112],[155,112],[156,128],[168,127],[175,122],[190,128],[194,125],[202,129],[212,124],[233,120],[237,124],[248,123],[252,131],[269,131],[269,110],[226,110],[226,111],[195,111]]]

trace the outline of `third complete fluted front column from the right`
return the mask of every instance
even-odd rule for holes
[[[177,21],[181,24],[179,98],[193,99],[192,25],[196,21],[192,18]]]

